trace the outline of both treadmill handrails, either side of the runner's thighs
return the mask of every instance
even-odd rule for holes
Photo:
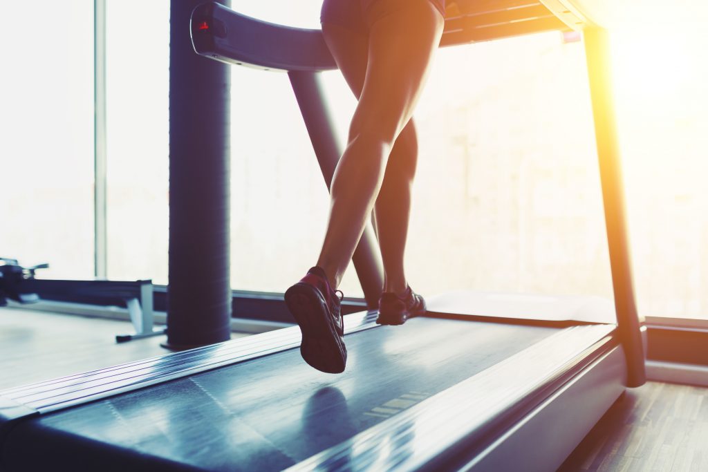
[[[541,1],[458,0],[448,8],[440,46],[569,29]],[[275,71],[337,68],[321,30],[277,25],[215,2],[194,9],[190,31],[197,54],[227,64]]]

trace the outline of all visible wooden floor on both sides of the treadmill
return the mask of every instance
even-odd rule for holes
[[[130,330],[123,321],[0,308],[0,390],[168,352],[163,336],[115,344]],[[708,388],[628,390],[559,471],[708,471]]]

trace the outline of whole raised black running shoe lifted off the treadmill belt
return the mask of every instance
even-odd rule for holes
[[[302,358],[330,374],[343,372],[347,362],[341,297],[337,292],[342,293],[332,290],[320,267],[312,267],[285,292],[285,304],[302,331]]]

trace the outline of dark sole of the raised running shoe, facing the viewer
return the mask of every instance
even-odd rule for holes
[[[285,304],[302,332],[300,354],[304,361],[321,372],[344,372],[346,347],[319,291],[298,282],[285,292]]]

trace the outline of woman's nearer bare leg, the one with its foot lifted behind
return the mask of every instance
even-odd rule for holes
[[[377,200],[394,142],[411,119],[440,41],[442,23],[440,13],[428,1],[411,0],[406,8],[371,25],[364,85],[348,146],[334,174],[329,223],[317,263],[333,287],[341,282]],[[340,29],[325,25],[323,32],[335,59],[344,63],[345,58],[338,58],[345,47]],[[387,200],[390,198],[382,201]],[[408,204],[405,206],[407,226]],[[383,218],[378,221],[381,234]]]

